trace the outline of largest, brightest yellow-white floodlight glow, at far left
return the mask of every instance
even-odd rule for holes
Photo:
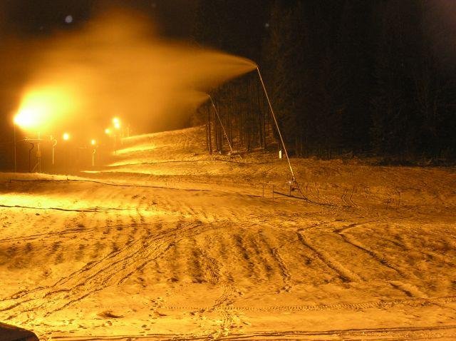
[[[73,98],[65,88],[46,86],[24,94],[14,123],[25,130],[43,131],[55,126],[59,116],[73,111]]]

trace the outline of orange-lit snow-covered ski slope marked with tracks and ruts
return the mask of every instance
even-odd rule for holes
[[[136,136],[0,175],[0,321],[41,340],[454,340],[456,170],[209,156]],[[296,191],[294,192],[296,193]],[[299,196],[298,193],[295,195]]]

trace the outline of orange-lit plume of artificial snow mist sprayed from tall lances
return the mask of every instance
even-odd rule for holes
[[[181,128],[204,92],[253,70],[252,61],[165,41],[145,17],[108,11],[76,32],[33,44],[33,71],[23,96],[59,88],[70,98],[48,127],[86,136],[113,116],[135,133]],[[20,106],[20,104],[19,104]]]

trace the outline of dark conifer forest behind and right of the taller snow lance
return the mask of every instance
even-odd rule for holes
[[[454,161],[453,7],[452,0],[202,0],[195,39],[259,62],[295,155]],[[246,101],[229,103],[236,98]]]

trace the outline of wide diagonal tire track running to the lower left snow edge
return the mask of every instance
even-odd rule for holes
[[[7,320],[36,310],[45,310],[46,316],[51,315],[94,292],[103,290],[108,285],[123,283],[129,275],[169,250],[171,243],[188,235],[201,233],[202,230],[204,230],[202,225],[187,224],[180,229],[170,228],[170,230],[157,233],[147,240],[147,245],[140,243],[141,240],[136,240],[128,247],[86,265],[52,286],[24,290],[20,295],[16,294],[1,300],[0,302],[6,307],[0,307],[0,311],[14,310],[11,311]],[[46,301],[41,302],[41,298],[46,298]],[[16,300],[16,302],[11,305],[12,302],[8,302],[11,300]],[[63,304],[63,302],[66,303]]]

